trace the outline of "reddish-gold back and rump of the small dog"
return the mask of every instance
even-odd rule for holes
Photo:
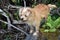
[[[43,17],[47,18],[47,15],[50,12],[50,8],[45,4],[39,4],[35,6],[33,10],[35,11],[35,13],[37,13],[36,15],[39,15],[42,18]]]

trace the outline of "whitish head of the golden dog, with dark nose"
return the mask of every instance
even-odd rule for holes
[[[31,13],[31,8],[23,7],[19,9],[19,17],[21,20],[26,21]]]

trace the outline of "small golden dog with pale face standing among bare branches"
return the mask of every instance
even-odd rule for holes
[[[19,17],[22,19],[22,21],[27,22],[29,25],[32,25],[36,28],[36,31],[33,35],[38,35],[39,33],[39,26],[40,22],[43,18],[47,18],[48,14],[50,13],[50,10],[53,8],[56,8],[56,5],[52,4],[39,4],[35,6],[34,8],[30,7],[22,7],[19,9]],[[30,31],[32,33],[33,30]]]

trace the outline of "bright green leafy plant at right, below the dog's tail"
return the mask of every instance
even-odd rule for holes
[[[52,20],[52,17],[49,15],[47,18],[47,22],[45,25],[43,25],[44,32],[55,32],[57,28],[60,27],[60,17],[58,17],[56,20]]]

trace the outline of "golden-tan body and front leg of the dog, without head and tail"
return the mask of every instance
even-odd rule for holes
[[[47,5],[39,4],[32,8],[31,15],[28,17],[27,23],[36,27],[36,31],[39,30],[40,22],[42,18],[47,18],[50,8]]]

